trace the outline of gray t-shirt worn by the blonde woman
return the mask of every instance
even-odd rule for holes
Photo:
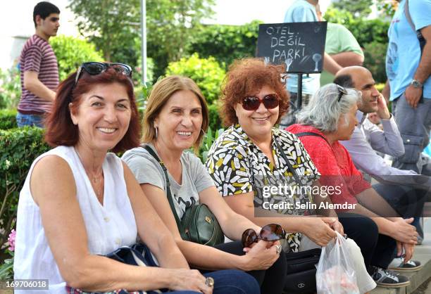
[[[152,144],[148,145],[158,155],[154,146]],[[122,159],[130,167],[133,174],[135,174],[135,178],[139,184],[151,184],[166,191],[165,174],[161,165],[144,148],[137,147],[126,151]],[[180,160],[182,165],[182,184],[178,184],[169,172],[168,177],[170,193],[174,198],[175,210],[181,219],[187,207],[199,203],[199,193],[215,185],[208,171],[196,155],[183,152]]]

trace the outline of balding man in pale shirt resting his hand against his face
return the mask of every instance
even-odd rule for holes
[[[361,101],[358,101],[355,127],[351,139],[341,141],[349,151],[358,169],[379,181],[373,188],[394,207],[399,215],[409,218],[416,217],[418,242],[423,238],[423,231],[418,224],[426,199],[427,187],[431,181],[420,176],[413,170],[399,170],[391,167],[376,152],[400,156],[404,154],[404,146],[394,117],[389,113],[385,98],[375,88],[373,75],[366,68],[352,66],[340,70],[334,80],[342,87],[361,91]],[[377,113],[383,129],[366,120],[368,113]],[[413,224],[415,224],[413,222]],[[411,271],[420,268],[420,262],[403,262],[401,256],[394,258],[389,267],[392,269]]]

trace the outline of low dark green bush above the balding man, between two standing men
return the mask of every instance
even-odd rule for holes
[[[363,66],[373,72],[373,77],[377,83],[386,82],[386,51],[387,43],[373,41],[365,44],[363,54],[365,56]]]

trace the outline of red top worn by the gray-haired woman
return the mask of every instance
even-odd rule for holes
[[[287,127],[287,131],[293,134],[301,132],[312,132],[325,135],[315,127],[305,126],[301,124],[293,124]],[[358,203],[355,196],[362,191],[371,188],[370,183],[364,180],[361,172],[359,172],[349,152],[336,141],[330,146],[320,136],[301,136],[299,137],[306,151],[313,160],[322,177],[320,184],[322,186],[333,186],[339,188],[330,194],[332,203]]]

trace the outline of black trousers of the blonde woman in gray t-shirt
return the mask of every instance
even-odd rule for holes
[[[235,255],[245,254],[239,241],[215,245],[215,248]],[[247,274],[251,274],[258,281],[262,294],[281,294],[283,288],[285,288],[286,270],[286,256],[285,253],[281,252],[278,260],[269,269],[247,271]]]

